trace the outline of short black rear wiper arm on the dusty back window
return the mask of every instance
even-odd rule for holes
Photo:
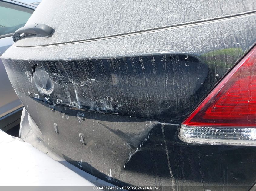
[[[48,38],[52,36],[53,33],[54,33],[54,29],[52,27],[49,27],[46,24],[35,23],[35,24],[26,25],[16,30],[15,33],[12,35],[12,39],[14,42],[16,42],[20,38],[33,36],[37,34],[40,34]]]

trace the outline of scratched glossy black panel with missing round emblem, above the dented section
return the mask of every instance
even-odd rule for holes
[[[165,123],[184,120],[227,71],[220,65],[221,73],[216,77],[211,65],[197,56],[182,53],[115,59],[31,60],[12,62],[7,67],[13,72],[9,75],[14,88],[30,97],[38,94],[39,100],[50,104],[59,99],[66,106],[75,102],[74,106],[81,110]]]

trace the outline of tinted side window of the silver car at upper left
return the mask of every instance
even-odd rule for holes
[[[0,1],[0,36],[23,27],[33,12],[33,9],[21,5]]]

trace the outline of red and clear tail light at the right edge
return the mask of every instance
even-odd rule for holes
[[[185,142],[256,145],[256,46],[181,124]]]

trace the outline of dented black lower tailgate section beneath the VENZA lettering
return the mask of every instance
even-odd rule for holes
[[[51,111],[45,103],[20,93],[19,97],[24,105],[33,105],[26,110],[40,124],[42,135],[36,125],[33,130],[48,147],[115,185],[248,190],[255,182],[255,147],[188,144],[178,139],[175,125],[60,106]],[[84,114],[84,121],[78,119],[78,112]],[[85,135],[85,145],[79,140],[80,133]]]

